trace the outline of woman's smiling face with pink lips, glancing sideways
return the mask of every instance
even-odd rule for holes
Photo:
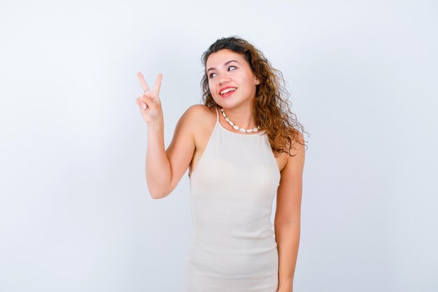
[[[219,106],[230,108],[250,104],[255,98],[256,85],[260,82],[243,55],[229,49],[219,50],[209,56],[206,70],[211,95]],[[236,90],[221,95],[226,88]]]

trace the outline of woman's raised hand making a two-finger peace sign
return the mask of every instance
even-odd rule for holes
[[[143,88],[143,93],[136,99],[136,103],[140,108],[141,116],[143,116],[149,125],[149,123],[156,122],[160,120],[160,118],[163,118],[160,100],[160,87],[163,74],[158,74],[153,90],[149,89],[148,83],[146,83],[141,72],[137,73],[137,77],[139,78],[141,88]]]

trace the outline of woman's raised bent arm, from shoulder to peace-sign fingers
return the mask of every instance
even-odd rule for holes
[[[148,123],[146,183],[151,197],[160,199],[176,188],[190,165],[195,152],[194,125],[197,124],[202,106],[190,106],[183,113],[176,124],[171,144],[165,150],[164,117],[159,97],[162,75],[158,75],[153,90],[148,90],[148,85],[141,73],[137,75],[143,90],[147,90],[136,100],[143,118]]]

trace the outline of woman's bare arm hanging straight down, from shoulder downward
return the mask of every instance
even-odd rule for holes
[[[302,135],[300,139],[304,140]],[[289,155],[281,170],[277,189],[274,231],[278,249],[278,292],[292,292],[298,256],[304,145],[297,143],[296,150],[296,155]]]

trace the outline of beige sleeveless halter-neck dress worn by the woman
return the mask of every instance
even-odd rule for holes
[[[277,292],[271,223],[280,172],[264,130],[216,125],[190,178],[192,237],[185,292]]]

